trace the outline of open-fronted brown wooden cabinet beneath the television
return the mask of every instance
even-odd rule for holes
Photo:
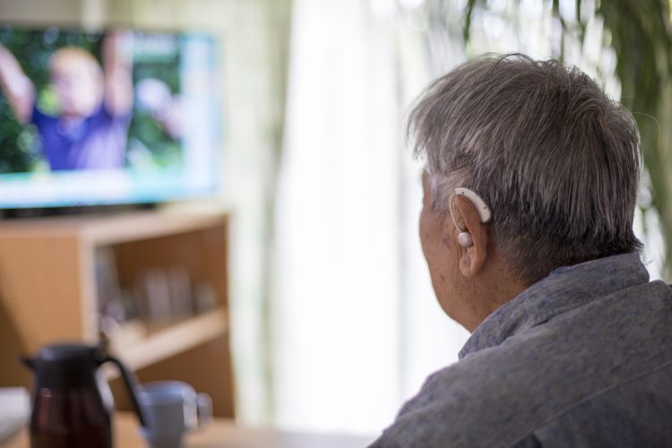
[[[233,417],[227,236],[226,216],[155,211],[0,223],[0,386],[30,387],[18,355],[102,335],[141,382],[192,383]]]

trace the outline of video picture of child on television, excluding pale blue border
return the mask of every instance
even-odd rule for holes
[[[0,173],[178,167],[189,41],[0,29]]]

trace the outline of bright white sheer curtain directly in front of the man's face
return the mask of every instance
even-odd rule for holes
[[[466,340],[435,304],[403,141],[428,82],[423,42],[394,2],[293,4],[271,308],[279,426],[374,433]]]

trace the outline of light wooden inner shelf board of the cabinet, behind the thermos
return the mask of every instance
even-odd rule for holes
[[[110,352],[121,358],[128,368],[139,370],[226,334],[227,323],[227,313],[220,308],[180,323],[170,323],[160,330],[148,328],[149,334],[139,340],[124,338],[123,344],[111,340]]]

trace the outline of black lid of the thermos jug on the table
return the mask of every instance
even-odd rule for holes
[[[37,386],[64,389],[93,385],[103,359],[97,346],[65,343],[44,347],[34,360]]]

